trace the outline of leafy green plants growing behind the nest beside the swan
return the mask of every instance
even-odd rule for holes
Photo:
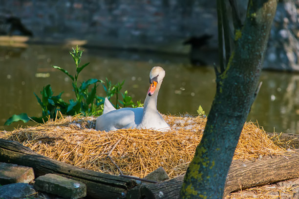
[[[110,99],[114,95],[116,96],[115,108],[120,107],[118,105],[118,102],[123,107],[140,107],[143,105],[140,101],[137,101],[137,104],[135,105],[135,103],[132,101],[132,97],[128,95],[128,91],[125,91],[124,94],[121,93],[123,100],[119,100],[120,90],[122,89],[122,86],[124,85],[125,81],[123,81],[122,83],[118,82],[114,85],[107,78],[106,78],[106,83],[103,80],[89,79],[83,81],[79,86],[78,76],[81,73],[81,71],[89,64],[88,62],[80,66],[82,54],[83,51],[80,50],[78,46],[75,49],[73,48],[73,51],[70,52],[70,55],[72,56],[76,65],[75,76],[71,75],[67,70],[59,66],[52,66],[53,68],[62,71],[65,75],[67,75],[71,79],[73,91],[76,97],[75,100],[71,99],[68,102],[65,102],[61,98],[63,92],[57,96],[54,96],[52,88],[48,84],[43,87],[43,90],[41,91],[41,95],[42,95],[41,98],[34,93],[36,99],[38,100],[39,104],[42,107],[42,117],[29,118],[27,114],[22,113],[20,115],[13,115],[9,119],[7,119],[4,125],[10,125],[12,122],[15,121],[27,122],[30,119],[42,123],[48,119],[57,118],[58,112],[60,112],[63,115],[71,115],[71,116],[78,115],[78,114],[83,114],[84,116],[101,115],[103,113],[105,98],[96,95],[97,87],[100,84],[103,86],[108,99]]]

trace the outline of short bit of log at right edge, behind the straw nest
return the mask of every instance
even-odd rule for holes
[[[291,146],[295,149],[299,149],[299,135],[291,133],[267,133],[270,138],[276,140],[279,139],[282,143],[285,143],[286,146]],[[277,137],[278,136],[278,137]]]

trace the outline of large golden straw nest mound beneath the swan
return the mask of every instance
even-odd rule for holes
[[[186,172],[200,142],[206,119],[165,116],[172,130],[121,129],[96,131],[94,118],[67,117],[11,132],[0,138],[15,140],[33,151],[59,161],[111,175],[143,178],[162,166],[170,178]],[[244,125],[234,159],[255,159],[285,151],[268,138],[257,124]],[[111,159],[107,158],[111,157]]]

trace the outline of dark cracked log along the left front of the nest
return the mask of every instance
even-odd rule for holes
[[[36,177],[58,174],[86,184],[88,198],[121,198],[136,185],[135,180],[111,176],[41,156],[16,141],[0,139],[0,161],[32,167]]]

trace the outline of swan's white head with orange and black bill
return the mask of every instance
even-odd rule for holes
[[[165,77],[165,70],[160,66],[155,66],[151,69],[149,73],[149,91],[148,95],[152,96],[155,92],[156,86],[158,83],[161,83],[163,81],[163,78]]]

